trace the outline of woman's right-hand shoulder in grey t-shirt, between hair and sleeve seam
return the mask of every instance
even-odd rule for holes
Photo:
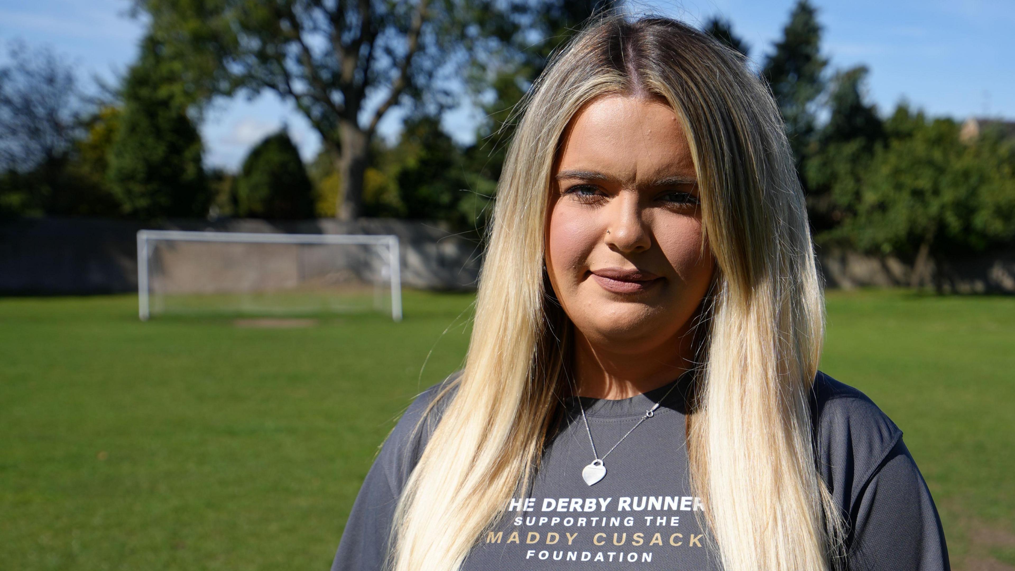
[[[852,506],[902,431],[866,394],[820,371],[811,411],[818,467],[840,505]]]

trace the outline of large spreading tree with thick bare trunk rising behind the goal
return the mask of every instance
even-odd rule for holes
[[[441,97],[442,80],[464,61],[479,28],[516,2],[137,0],[136,6],[207,93],[271,89],[295,104],[336,165],[344,187],[337,210],[348,219],[359,214],[381,120],[399,104]]]

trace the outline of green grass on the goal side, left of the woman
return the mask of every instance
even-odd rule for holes
[[[395,418],[461,363],[471,301],[279,329],[0,300],[0,567],[327,569]]]

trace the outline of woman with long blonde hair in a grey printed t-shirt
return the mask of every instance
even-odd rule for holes
[[[946,569],[901,433],[817,371],[779,112],[743,60],[607,17],[531,90],[460,374],[389,437],[333,570]]]

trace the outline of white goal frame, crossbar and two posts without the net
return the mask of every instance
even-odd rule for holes
[[[391,316],[402,320],[402,288],[398,237],[395,235],[356,234],[274,234],[259,232],[199,232],[184,230],[140,230],[137,233],[137,294],[138,317],[147,321],[150,287],[148,258],[151,244],[157,240],[177,242],[226,242],[247,244],[350,244],[385,246],[391,265]]]

